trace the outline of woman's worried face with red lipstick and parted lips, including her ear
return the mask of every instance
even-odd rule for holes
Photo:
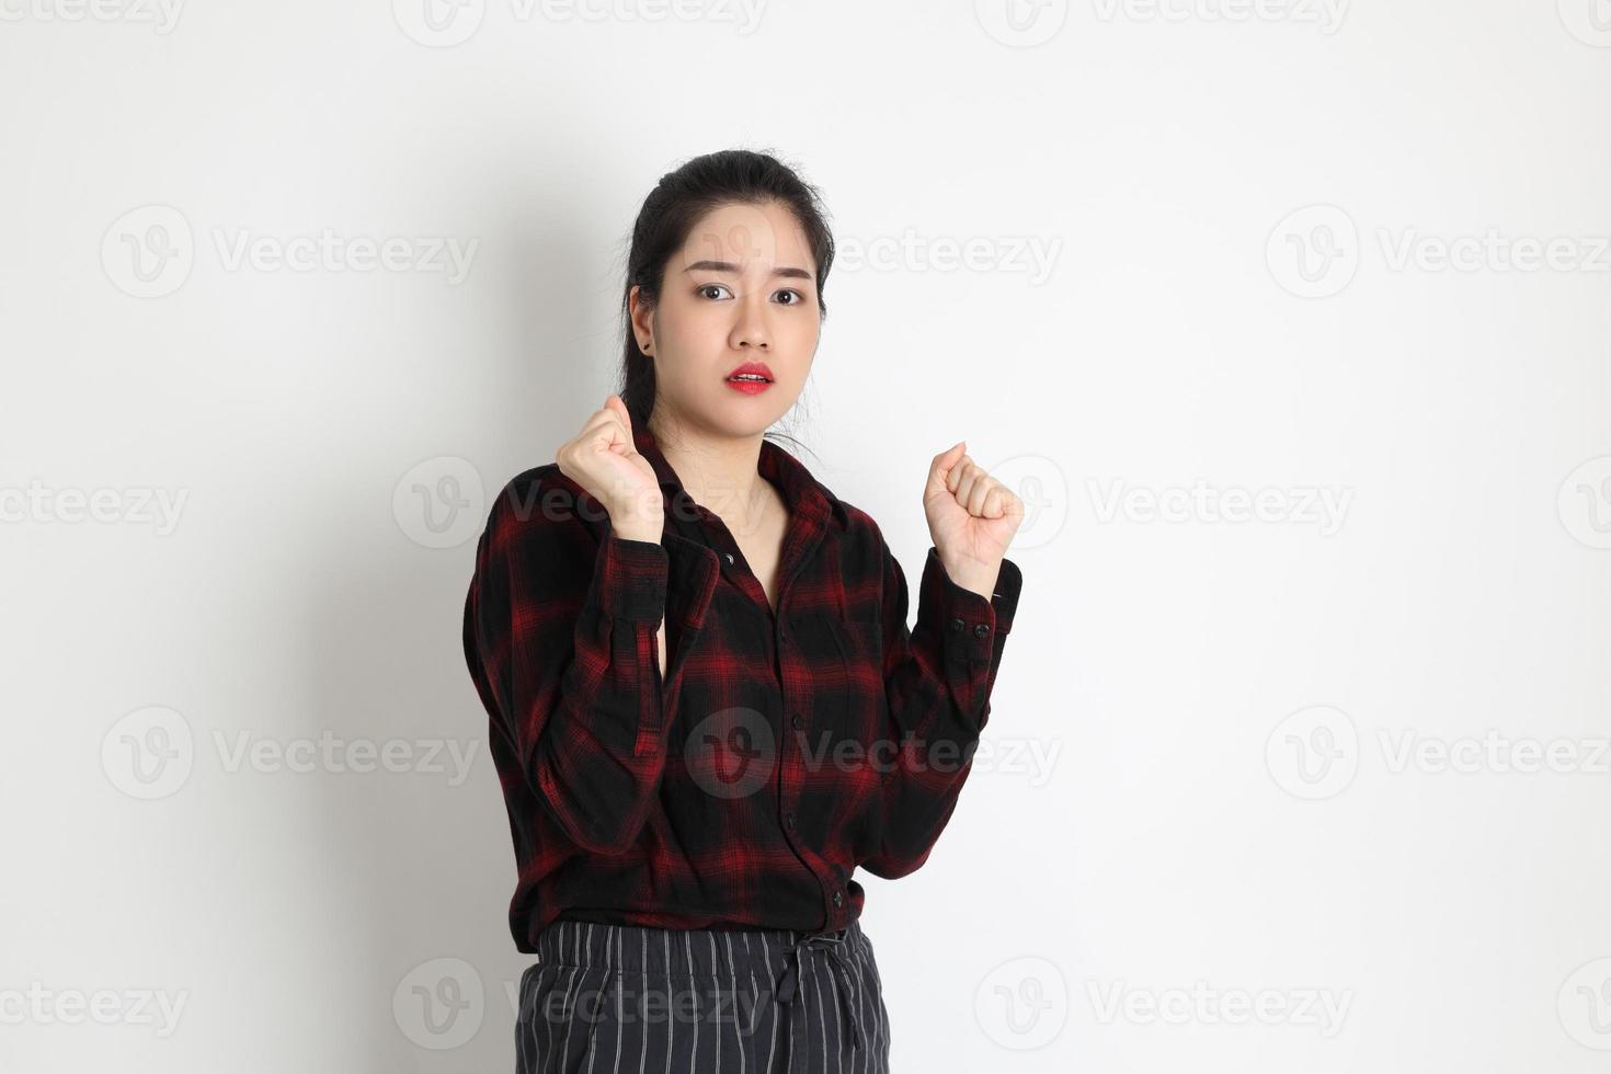
[[[775,203],[723,204],[665,262],[661,299],[632,290],[638,345],[654,361],[656,409],[733,436],[765,432],[806,385],[822,312],[817,262],[794,214]],[[767,382],[733,382],[756,364]],[[664,414],[662,414],[664,417]]]

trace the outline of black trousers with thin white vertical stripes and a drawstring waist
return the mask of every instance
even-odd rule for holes
[[[559,919],[520,976],[517,1074],[888,1074],[860,924],[656,929]]]

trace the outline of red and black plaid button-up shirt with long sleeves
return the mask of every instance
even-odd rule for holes
[[[464,654],[491,726],[520,952],[554,918],[838,929],[855,866],[928,858],[968,776],[1021,575],[955,585],[933,546],[917,625],[870,515],[764,440],[789,506],[778,612],[648,428],[659,544],[541,465],[499,493],[475,552]],[[657,639],[665,617],[667,667]]]

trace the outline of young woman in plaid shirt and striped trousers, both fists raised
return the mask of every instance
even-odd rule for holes
[[[514,836],[517,1069],[886,1071],[857,866],[912,873],[989,717],[1023,504],[923,486],[917,625],[878,525],[764,433],[820,338],[833,238],[772,156],[638,214],[623,386],[499,493],[464,609]]]

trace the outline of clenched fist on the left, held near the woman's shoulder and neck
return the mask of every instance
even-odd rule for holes
[[[609,512],[611,528],[628,541],[659,544],[665,525],[661,478],[632,441],[632,415],[619,394],[588,417],[582,432],[556,452],[559,472]]]

